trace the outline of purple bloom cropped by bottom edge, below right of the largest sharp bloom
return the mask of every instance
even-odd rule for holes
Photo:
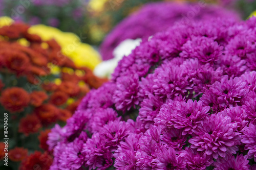
[[[236,158],[234,158],[233,155],[227,155],[225,158],[218,158],[216,162],[214,162],[214,170],[249,170],[247,157],[247,155],[237,155]]]

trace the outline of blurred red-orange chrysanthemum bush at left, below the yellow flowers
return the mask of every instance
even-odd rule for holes
[[[8,116],[9,142],[14,143],[10,161],[15,165],[22,161],[20,170],[48,170],[52,156],[47,129],[53,123],[66,124],[81,98],[108,80],[76,66],[54,39],[44,41],[28,29],[21,22],[0,28],[0,109],[12,113]],[[17,148],[20,143],[24,148]],[[4,148],[0,143],[0,158]]]

